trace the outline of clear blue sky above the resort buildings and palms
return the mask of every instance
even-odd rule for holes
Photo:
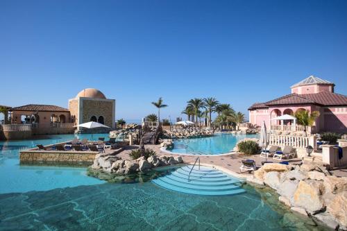
[[[174,118],[214,96],[247,113],[310,75],[347,92],[347,1],[0,1],[0,105],[67,107],[83,88],[116,117]]]

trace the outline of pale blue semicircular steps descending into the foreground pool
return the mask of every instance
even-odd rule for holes
[[[172,169],[169,173],[152,180],[155,185],[185,194],[222,196],[242,194],[240,180],[208,166],[187,165]],[[190,173],[190,177],[189,177]]]

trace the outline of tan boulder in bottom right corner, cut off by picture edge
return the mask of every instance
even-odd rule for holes
[[[347,227],[347,191],[336,194],[330,200],[327,212],[332,214],[340,225]]]

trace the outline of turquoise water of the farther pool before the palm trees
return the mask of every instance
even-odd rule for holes
[[[219,133],[212,137],[195,139],[176,139],[173,153],[187,155],[221,155],[230,153],[240,139],[259,137],[259,135],[233,135]]]

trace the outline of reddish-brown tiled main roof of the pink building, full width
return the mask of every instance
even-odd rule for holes
[[[278,99],[267,101],[266,103],[254,103],[248,110],[256,108],[269,108],[272,105],[296,105],[315,104],[322,106],[347,106],[347,96],[332,92],[319,92],[315,94],[287,94]]]

